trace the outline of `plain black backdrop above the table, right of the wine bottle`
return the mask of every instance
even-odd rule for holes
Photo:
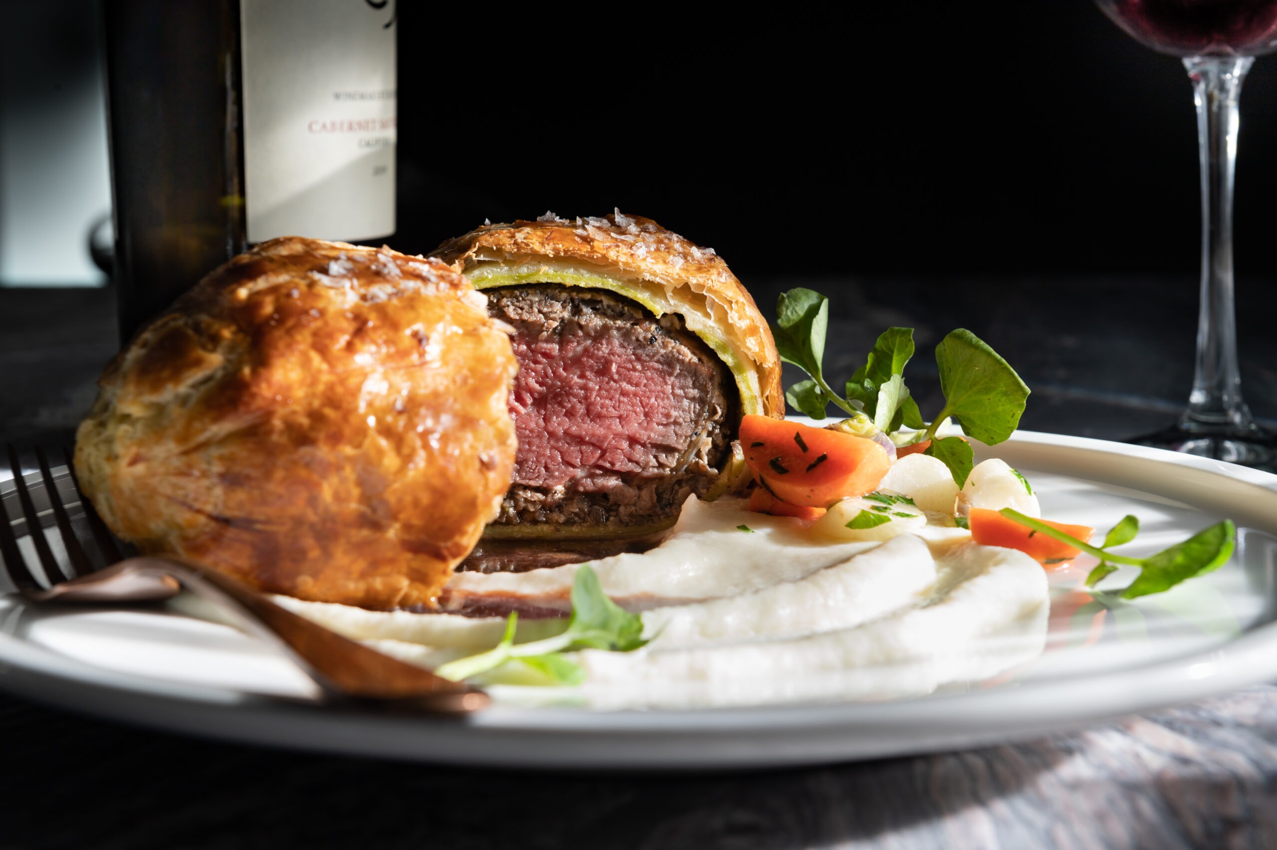
[[[747,283],[1197,273],[1188,77],[1085,0],[437,9],[398,13],[401,250],[484,218],[619,207],[714,246]],[[1274,103],[1277,59],[1260,59],[1243,94],[1243,277],[1277,272]]]

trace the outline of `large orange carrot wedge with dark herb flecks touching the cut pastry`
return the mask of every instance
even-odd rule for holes
[[[741,421],[741,445],[765,490],[808,508],[872,493],[891,468],[873,440],[752,414]]]

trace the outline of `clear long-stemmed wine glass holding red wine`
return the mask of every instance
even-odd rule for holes
[[[1180,56],[1193,80],[1202,165],[1202,308],[1197,366],[1177,425],[1131,440],[1272,468],[1273,434],[1241,398],[1232,297],[1237,97],[1254,57],[1277,48],[1277,0],[1096,0],[1139,42]]]

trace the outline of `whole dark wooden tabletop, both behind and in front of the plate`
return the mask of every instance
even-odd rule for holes
[[[1190,281],[797,283],[835,297],[826,373],[849,374],[889,324],[917,327],[919,352],[969,327],[1034,388],[1023,426],[1036,430],[1151,431],[1191,379]],[[779,288],[755,294],[766,305]],[[1243,373],[1271,419],[1272,296],[1255,300],[1239,310]],[[0,434],[74,426],[114,350],[112,320],[109,290],[0,288]],[[923,410],[936,392],[926,360],[909,382]],[[778,772],[534,773],[314,756],[6,696],[0,747],[0,847],[1277,846],[1277,688],[1263,684],[1032,742]]]

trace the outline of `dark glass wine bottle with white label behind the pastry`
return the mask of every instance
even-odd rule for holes
[[[107,0],[128,341],[276,236],[395,232],[395,0]]]

